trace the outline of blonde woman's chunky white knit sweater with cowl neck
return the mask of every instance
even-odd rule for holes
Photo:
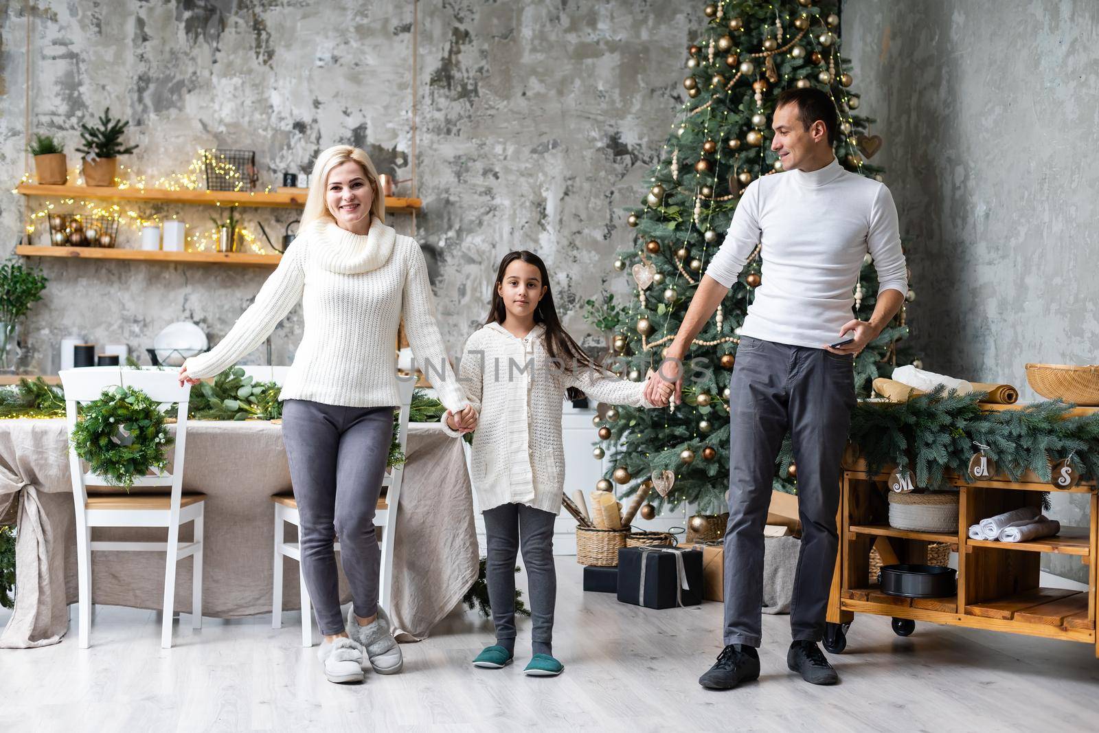
[[[298,301],[304,333],[281,399],[369,408],[400,404],[397,329],[452,412],[468,402],[446,359],[428,266],[414,240],[378,222],[366,235],[332,222],[307,226],[225,337],[187,359],[189,376],[212,377],[258,347]]]

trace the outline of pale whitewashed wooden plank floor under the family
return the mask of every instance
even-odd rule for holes
[[[900,638],[888,619],[867,615],[833,657],[837,687],[792,676],[789,619],[764,617],[761,680],[703,690],[696,680],[720,651],[720,603],[626,606],[582,592],[570,558],[557,568],[558,678],[520,674],[525,621],[517,664],[502,670],[469,666],[491,626],[456,613],[432,638],[403,645],[403,674],[347,687],[325,681],[314,649],[298,645],[296,612],[278,631],[263,615],[207,619],[192,632],[185,615],[164,651],[156,613],[100,608],[90,649],[73,638],[0,649],[0,730],[1059,732],[1099,720],[1099,660],[1087,645],[933,624]]]

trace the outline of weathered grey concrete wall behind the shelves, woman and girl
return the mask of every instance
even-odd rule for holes
[[[614,0],[419,4],[377,0],[81,0],[31,8],[31,129],[54,133],[76,165],[78,124],[104,107],[141,145],[124,165],[151,182],[186,169],[196,149],[255,149],[260,186],[308,170],[329,145],[366,148],[381,171],[411,174],[418,111],[417,237],[436,259],[440,322],[452,353],[488,311],[510,249],[546,260],[565,324],[582,338],[581,303],[628,246],[621,207],[640,200],[679,102],[689,29],[700,11]],[[23,223],[26,23],[0,2],[0,256]],[[678,91],[677,91],[678,90]],[[407,195],[409,185],[399,193]],[[32,199],[32,207],[42,200]],[[143,204],[210,227],[213,209]],[[286,210],[242,209],[274,236]],[[395,215],[409,233],[411,219]],[[42,235],[38,235],[40,237]],[[123,236],[133,243],[136,231]],[[35,244],[44,244],[35,241]],[[217,343],[268,270],[43,260],[51,279],[23,333],[24,366],[56,370],[59,340],[82,335],[131,352],[177,320]],[[618,278],[621,280],[621,278]],[[271,338],[287,363],[301,337],[296,309]],[[245,360],[262,362],[259,351]]]

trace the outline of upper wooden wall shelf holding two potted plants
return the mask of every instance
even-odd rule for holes
[[[116,188],[114,186],[43,186],[23,184],[15,191],[23,196],[47,196],[66,199],[95,199],[98,201],[148,201],[154,203],[193,203],[242,207],[300,209],[306,206],[306,189],[296,191],[199,191],[168,190],[162,188]],[[420,199],[386,197],[386,213],[412,213],[423,206]]]

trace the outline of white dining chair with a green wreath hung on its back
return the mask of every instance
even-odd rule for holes
[[[89,486],[110,487],[107,480],[85,471],[76,448],[69,444],[69,473],[73,478],[73,499],[76,509],[77,585],[79,590],[78,636],[81,648],[88,648],[91,635],[91,553],[103,552],[163,552],[166,554],[164,571],[164,620],[160,646],[171,647],[171,624],[175,610],[176,564],[185,557],[193,558],[191,586],[191,628],[202,626],[202,521],[206,496],[184,493],[184,456],[187,445],[187,406],[190,387],[179,386],[174,370],[131,369],[120,367],[81,367],[64,369],[59,374],[65,389],[65,412],[68,434],[76,427],[78,404],[100,398],[109,387],[141,389],[160,410],[167,412],[176,404],[176,440],[171,447],[171,473],[160,473],[134,479],[134,489],[122,492],[113,488],[108,492],[88,493]],[[144,489],[170,487],[171,493],[151,493]],[[192,522],[191,542],[179,543],[179,525]],[[131,527],[156,526],[168,530],[167,542],[96,542],[91,529],[97,526]]]

